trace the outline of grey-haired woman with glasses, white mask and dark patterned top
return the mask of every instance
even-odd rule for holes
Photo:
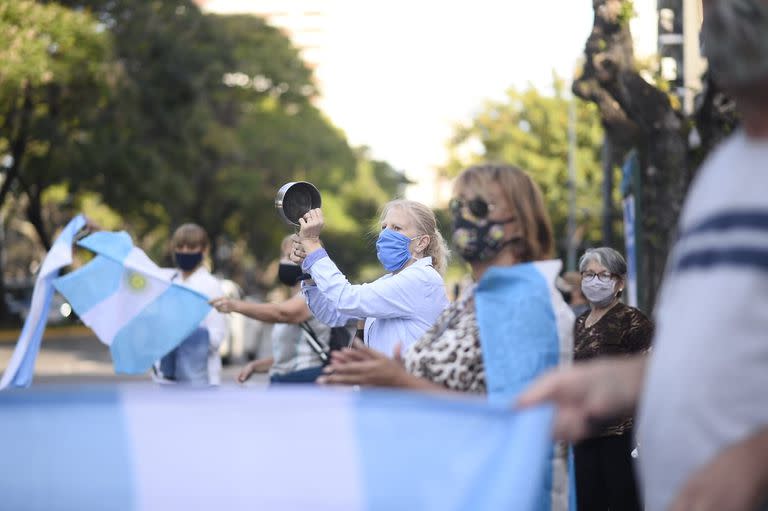
[[[587,250],[579,261],[581,290],[591,310],[576,318],[574,358],[620,356],[648,350],[653,325],[619,300],[627,263],[612,248]],[[632,418],[603,424],[574,446],[578,509],[641,509],[632,470]]]

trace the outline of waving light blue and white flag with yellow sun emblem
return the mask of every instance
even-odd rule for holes
[[[109,346],[118,373],[146,372],[211,310],[206,296],[171,282],[173,272],[153,263],[125,232],[96,232],[78,245],[96,257],[54,286]]]

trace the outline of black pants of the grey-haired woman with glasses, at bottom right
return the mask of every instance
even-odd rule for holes
[[[579,511],[640,511],[632,449],[631,431],[574,446]]]

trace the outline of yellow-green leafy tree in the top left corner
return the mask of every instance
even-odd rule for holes
[[[110,89],[109,43],[86,13],[0,1],[0,208],[9,196],[24,195],[25,216],[46,249],[43,194],[89,171],[84,153]],[[0,222],[4,229],[6,219]],[[0,296],[3,275],[0,268]]]

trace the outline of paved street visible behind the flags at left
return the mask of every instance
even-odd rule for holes
[[[5,371],[16,340],[11,335],[0,339],[0,368]],[[225,367],[223,385],[237,385],[234,379],[242,363]],[[48,333],[35,364],[35,383],[93,383],[93,382],[142,382],[152,384],[149,374],[131,376],[116,375],[112,368],[109,348],[99,342],[85,328]],[[248,386],[266,386],[265,374],[251,377]]]

